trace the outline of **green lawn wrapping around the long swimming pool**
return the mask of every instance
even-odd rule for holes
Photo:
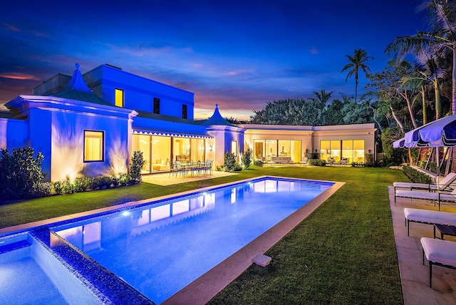
[[[403,304],[387,190],[394,181],[408,180],[398,170],[253,167],[239,175],[167,187],[142,183],[3,205],[0,227],[258,175],[346,185],[266,252],[271,264],[252,265],[210,304]]]

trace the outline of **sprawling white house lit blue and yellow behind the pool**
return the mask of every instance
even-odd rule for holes
[[[194,94],[108,64],[84,74],[56,74],[5,104],[0,147],[30,146],[43,153],[47,180],[127,172],[133,151],[143,174],[167,172],[172,162],[214,160],[245,150],[255,160],[306,153],[324,160],[363,162],[374,153],[373,124],[341,126],[234,125],[217,105],[208,120],[194,120]]]

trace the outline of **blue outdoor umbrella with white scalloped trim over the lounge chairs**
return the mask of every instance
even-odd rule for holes
[[[393,148],[441,148],[456,146],[456,115],[440,118],[405,133],[393,143]],[[439,154],[437,149],[437,188],[439,185]]]

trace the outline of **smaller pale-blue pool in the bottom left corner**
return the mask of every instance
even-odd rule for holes
[[[30,234],[0,239],[0,281],[0,304],[101,304]]]

